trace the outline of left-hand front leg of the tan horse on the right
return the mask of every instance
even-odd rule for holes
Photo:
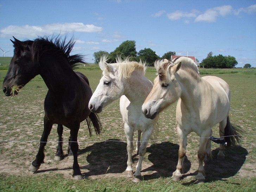
[[[185,134],[179,127],[177,127],[177,133],[180,141],[179,147],[179,159],[176,166],[176,171],[172,174],[173,181],[179,181],[183,173],[183,161],[186,155],[186,145],[187,145],[187,134]]]

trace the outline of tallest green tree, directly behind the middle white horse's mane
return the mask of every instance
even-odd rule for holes
[[[136,42],[134,40],[123,41],[116,49],[109,54],[109,62],[114,63],[116,56],[121,58],[130,57],[130,60],[136,60]]]

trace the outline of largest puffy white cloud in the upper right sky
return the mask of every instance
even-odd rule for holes
[[[195,19],[196,22],[206,21],[206,22],[215,22],[216,18],[219,16],[225,16],[232,13],[232,6],[224,5],[220,7],[213,7],[211,9],[207,9],[203,14],[200,14]]]

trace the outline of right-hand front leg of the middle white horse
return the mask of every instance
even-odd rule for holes
[[[151,126],[151,127],[148,127],[145,132],[143,132],[143,135],[142,135],[142,141],[141,141],[141,146],[139,148],[139,161],[136,165],[136,171],[134,173],[134,178],[132,179],[133,182],[137,183],[139,181],[141,181],[141,164],[142,164],[142,160],[143,160],[143,157],[146,153],[146,150],[147,150],[147,143],[148,143],[148,140],[150,139],[151,135],[153,134],[153,130],[154,130],[154,127]]]

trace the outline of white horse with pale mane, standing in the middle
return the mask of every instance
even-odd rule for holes
[[[128,161],[125,174],[133,177],[133,182],[141,180],[141,164],[146,153],[148,140],[153,132],[157,132],[154,119],[147,119],[141,112],[141,107],[153,84],[145,76],[145,63],[130,62],[129,59],[121,60],[117,57],[116,62],[109,64],[107,57],[100,60],[100,68],[103,71],[102,78],[94,94],[89,101],[89,109],[94,113],[100,113],[102,108],[120,98],[120,111],[124,122],[124,132],[127,137]],[[132,152],[133,134],[138,132],[137,154],[139,162],[133,175]],[[140,141],[142,135],[142,141]]]

